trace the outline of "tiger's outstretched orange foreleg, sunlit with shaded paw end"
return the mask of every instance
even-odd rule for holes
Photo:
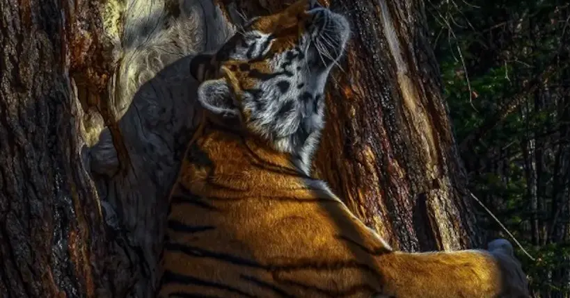
[[[378,256],[386,279],[383,295],[397,298],[528,298],[528,280],[507,240],[489,250],[404,253]]]

